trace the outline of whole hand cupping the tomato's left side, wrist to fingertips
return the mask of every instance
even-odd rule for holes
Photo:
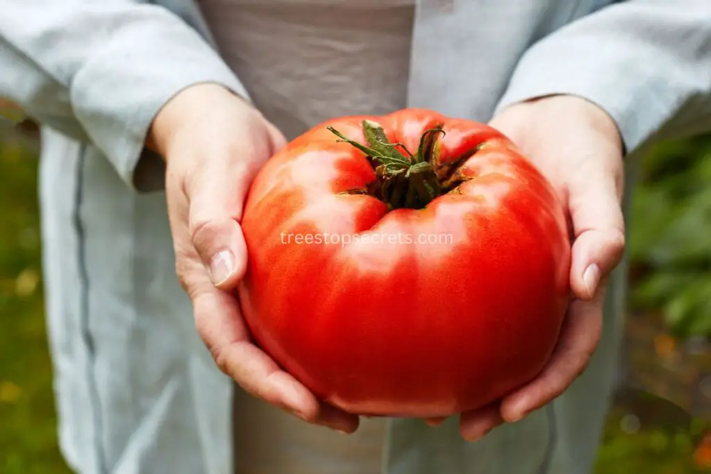
[[[357,416],[320,403],[252,344],[232,293],[247,262],[239,225],[245,195],[264,162],[284,146],[284,136],[223,87],[197,85],[161,109],[148,143],[166,161],[178,279],[220,370],[304,421],[355,431]]]

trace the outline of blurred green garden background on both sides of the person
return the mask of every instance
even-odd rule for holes
[[[43,319],[37,166],[37,140],[0,122],[2,474],[69,472]],[[596,473],[711,472],[702,422],[711,417],[711,137],[657,146],[642,171],[620,369],[629,386],[610,411]]]

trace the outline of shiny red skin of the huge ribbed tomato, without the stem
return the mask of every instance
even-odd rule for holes
[[[467,181],[454,193],[388,212],[371,195],[339,194],[366,188],[375,171],[326,125],[364,142],[363,119],[410,150],[442,125],[438,169],[481,149],[459,162]],[[404,109],[316,126],[257,176],[242,230],[249,260],[237,292],[256,343],[351,413],[475,409],[535,377],[557,342],[570,291],[563,208],[486,125]]]

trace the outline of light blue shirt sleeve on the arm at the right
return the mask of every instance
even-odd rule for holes
[[[628,152],[711,131],[711,2],[628,0],[535,43],[496,107],[583,97],[616,122]]]

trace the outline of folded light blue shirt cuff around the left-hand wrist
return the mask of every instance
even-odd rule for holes
[[[123,28],[77,73],[70,95],[92,144],[138,192],[164,188],[164,161],[146,149],[151,123],[192,85],[223,85],[249,95],[218,52],[177,17]]]

